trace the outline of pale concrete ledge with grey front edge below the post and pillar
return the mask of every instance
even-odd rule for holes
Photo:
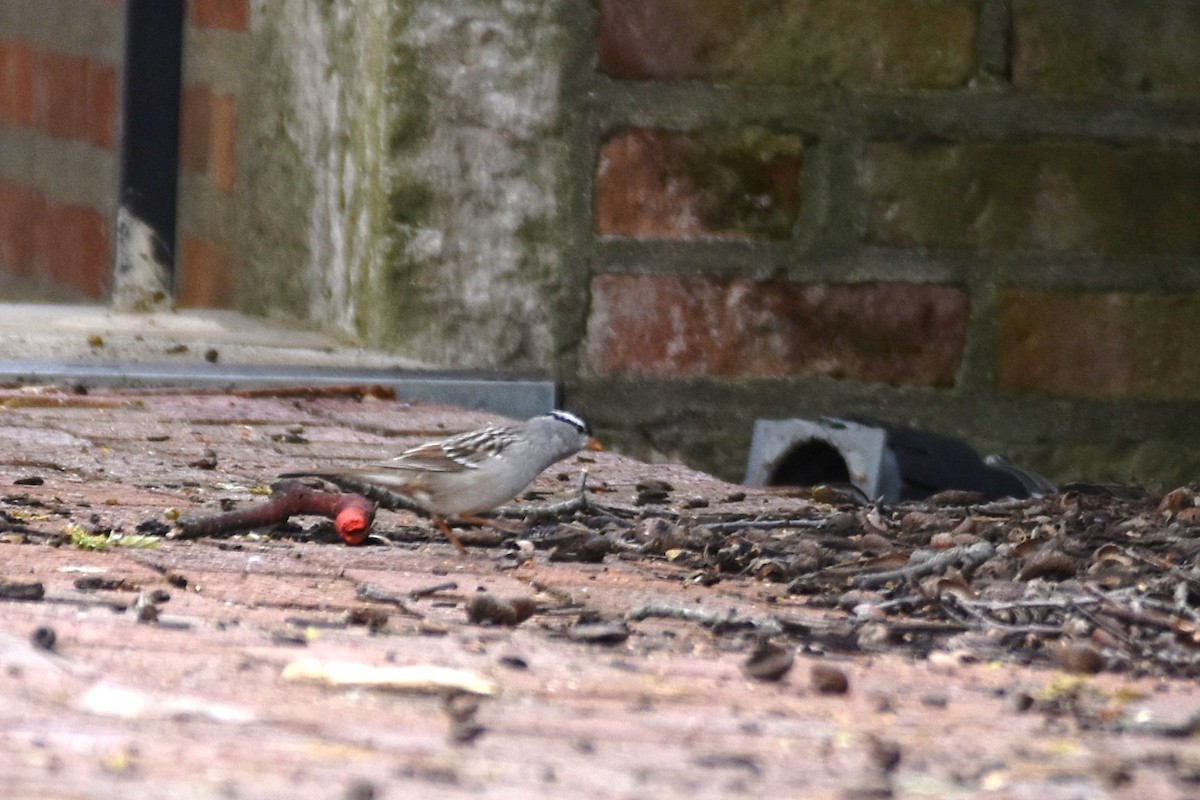
[[[556,405],[536,374],[444,371],[232,311],[122,314],[98,306],[0,305],[0,381],[88,386],[378,385],[404,401],[516,419]]]

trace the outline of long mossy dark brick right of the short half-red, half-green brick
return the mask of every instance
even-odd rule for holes
[[[1200,253],[1200,148],[877,143],[865,173],[878,243]]]

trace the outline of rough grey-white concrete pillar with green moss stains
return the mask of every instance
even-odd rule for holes
[[[187,83],[233,96],[236,168],[226,196],[193,176],[184,224],[229,249],[233,302],[448,367],[547,367],[562,6],[264,0],[242,36],[194,32]]]

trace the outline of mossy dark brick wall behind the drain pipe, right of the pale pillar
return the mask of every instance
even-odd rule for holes
[[[756,416],[868,414],[1058,477],[1200,475],[1200,4],[593,23],[569,395],[628,447],[733,476]]]

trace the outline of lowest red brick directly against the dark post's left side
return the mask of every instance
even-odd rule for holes
[[[109,234],[109,221],[95,209],[50,204],[37,231],[35,264],[55,283],[98,300],[112,272]]]

